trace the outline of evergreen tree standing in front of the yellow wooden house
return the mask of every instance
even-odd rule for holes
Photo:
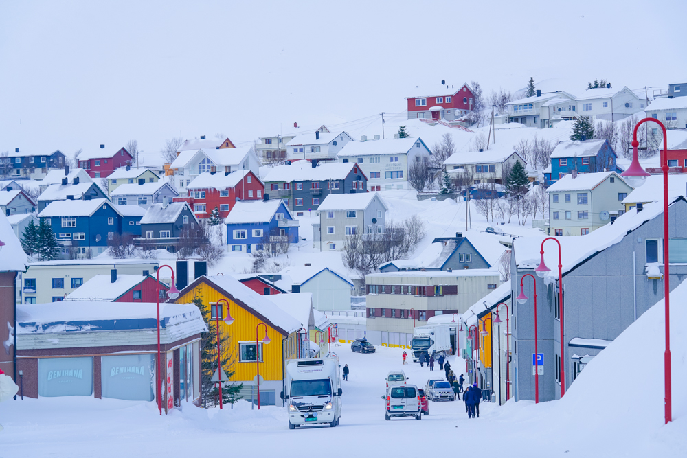
[[[207,323],[207,332],[201,334],[201,396],[203,397],[203,406],[207,407],[219,404],[219,389],[215,382],[212,382],[212,375],[217,370],[217,328],[216,320],[212,319],[212,314],[210,310],[210,305],[203,304],[203,299],[201,297],[201,289],[196,288],[193,292],[192,303],[201,310],[201,315],[203,321]],[[227,310],[225,309],[225,304],[220,304],[223,308],[223,313],[221,317],[225,317]],[[220,319],[222,321],[222,319]],[[232,380],[234,376],[234,371],[232,366],[234,365],[234,354],[231,350],[232,339],[231,337],[223,334],[222,327],[220,327],[220,349],[222,352],[221,363],[222,370],[227,374],[229,380]],[[223,350],[227,349],[227,351]],[[222,385],[222,402],[233,403],[240,399],[238,392],[243,388],[243,383],[232,383],[231,385]],[[257,396],[257,395],[256,395]]]

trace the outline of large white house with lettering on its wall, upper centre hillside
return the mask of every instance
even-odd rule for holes
[[[375,137],[379,137],[376,135]],[[349,141],[337,154],[337,162],[355,162],[368,176],[368,190],[407,189],[408,168],[431,151],[420,139],[403,138],[368,141]]]

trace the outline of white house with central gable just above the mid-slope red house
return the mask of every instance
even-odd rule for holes
[[[234,172],[234,170],[250,170],[259,176],[260,161],[253,146],[238,148],[217,148],[185,150],[174,159],[170,170],[174,173],[174,187],[188,186],[191,181],[203,172]]]

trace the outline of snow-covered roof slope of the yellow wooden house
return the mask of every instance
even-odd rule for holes
[[[269,300],[271,296],[259,295],[248,286],[245,286],[245,284],[229,277],[229,275],[206,276],[200,278],[200,280],[202,279],[223,290],[223,293],[229,296],[228,299],[232,299],[239,306],[247,308],[251,313],[258,315],[258,318],[269,321],[273,328],[280,328],[286,334],[291,334],[291,332],[302,326],[308,325],[307,321],[302,323],[292,317],[291,314],[284,312],[284,310]],[[188,288],[193,286],[194,284],[191,284],[184,289],[188,290]]]

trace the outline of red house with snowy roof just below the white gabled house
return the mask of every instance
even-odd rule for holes
[[[210,218],[215,207],[221,218],[226,218],[237,198],[240,201],[262,199],[264,183],[250,170],[204,172],[196,176],[186,190],[188,196],[174,198],[174,202],[188,203],[196,218]]]

